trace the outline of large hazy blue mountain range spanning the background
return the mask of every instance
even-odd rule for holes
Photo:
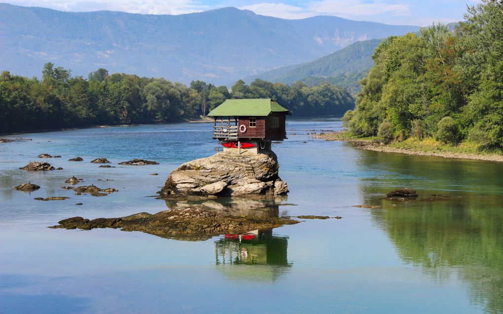
[[[43,64],[228,83],[414,26],[318,16],[284,20],[224,8],[185,15],[71,13],[0,4],[0,70],[40,76]]]

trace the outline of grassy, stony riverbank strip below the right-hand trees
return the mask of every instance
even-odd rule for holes
[[[352,137],[347,132],[318,133],[312,134],[312,137],[326,141],[349,142],[359,148],[376,152],[503,162],[502,154],[484,152],[475,153],[473,152],[475,148],[470,147],[465,143],[463,143],[464,145],[460,144],[459,146],[450,146],[441,144],[433,139],[420,141],[418,139],[410,138],[403,142],[384,145],[383,143],[379,143],[375,138],[359,139]]]

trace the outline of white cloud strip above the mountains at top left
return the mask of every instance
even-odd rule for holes
[[[11,0],[9,3],[72,12],[110,10],[141,14],[185,14],[208,9],[192,0]]]

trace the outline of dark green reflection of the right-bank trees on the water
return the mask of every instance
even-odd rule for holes
[[[360,160],[381,175],[374,177],[375,182],[362,180],[360,189],[367,204],[381,206],[368,211],[398,256],[439,283],[456,274],[467,283],[472,303],[485,306],[489,313],[503,312],[503,195],[499,188],[503,178],[497,175],[501,165],[438,158],[417,163],[410,156],[383,156],[370,154]],[[401,186],[417,188],[420,196],[405,202],[379,199],[385,187],[389,191]],[[452,198],[421,200],[432,193]]]

